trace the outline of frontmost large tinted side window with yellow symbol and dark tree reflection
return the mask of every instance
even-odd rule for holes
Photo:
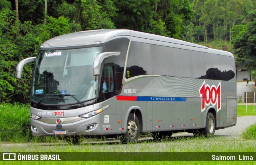
[[[145,74],[152,74],[150,45],[141,42],[132,42],[125,77],[128,79]]]

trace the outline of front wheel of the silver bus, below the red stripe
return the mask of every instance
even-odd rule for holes
[[[126,125],[126,133],[124,133],[124,136],[121,137],[122,143],[128,143],[128,142],[136,142],[140,135],[140,122],[138,120],[138,117],[134,113],[130,113],[127,119],[127,125]]]

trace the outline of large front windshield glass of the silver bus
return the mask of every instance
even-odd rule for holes
[[[72,104],[98,95],[94,59],[102,47],[70,50],[40,50],[32,84],[32,101],[43,104]]]

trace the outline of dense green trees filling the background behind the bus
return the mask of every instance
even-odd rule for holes
[[[0,0],[0,102],[29,102],[32,64],[21,80],[16,65],[44,41],[74,31],[131,29],[229,51],[232,41],[239,58],[256,56],[255,0],[15,1],[18,8]]]

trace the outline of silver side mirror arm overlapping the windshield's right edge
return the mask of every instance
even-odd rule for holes
[[[118,56],[120,52],[104,52],[99,54],[93,62],[93,76],[99,76],[100,75],[100,66],[102,64],[102,61],[105,58],[110,58],[114,56]]]

